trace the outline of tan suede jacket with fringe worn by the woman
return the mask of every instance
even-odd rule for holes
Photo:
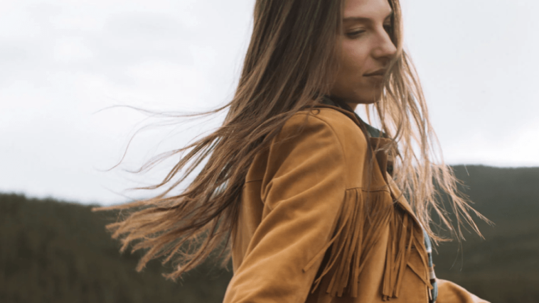
[[[225,303],[429,302],[422,228],[386,172],[391,154],[369,160],[390,140],[360,125],[335,106],[300,111],[257,155]],[[437,303],[486,302],[437,284]]]

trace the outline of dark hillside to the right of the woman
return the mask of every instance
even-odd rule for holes
[[[462,250],[444,243],[434,254],[438,277],[491,302],[539,302],[539,167],[455,166],[476,210],[485,240],[464,233]]]

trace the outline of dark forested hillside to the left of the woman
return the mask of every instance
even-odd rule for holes
[[[112,214],[90,209],[0,194],[1,303],[222,302],[231,272],[203,268],[180,283],[158,261],[136,272],[140,254],[120,255],[105,231]]]

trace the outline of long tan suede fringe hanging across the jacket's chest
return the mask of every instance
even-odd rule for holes
[[[390,231],[383,273],[384,301],[399,295],[412,244],[417,248],[423,248],[418,251],[427,268],[425,245],[415,234],[415,219],[410,218],[407,212],[402,216],[402,220],[397,217],[399,214],[395,211],[393,203],[388,203],[388,196],[390,194],[383,190],[372,192],[365,192],[363,189],[346,190],[334,236],[303,268],[304,272],[309,270],[317,260],[324,257],[331,246],[329,260],[321,274],[314,280],[312,292],[319,287],[323,277],[331,275],[327,293],[332,297],[342,297],[343,294],[358,297],[359,275],[375,243],[380,239],[380,233],[387,226]],[[368,204],[365,203],[366,200],[369,201]],[[368,209],[365,209],[367,207]],[[428,281],[424,282],[430,285]]]

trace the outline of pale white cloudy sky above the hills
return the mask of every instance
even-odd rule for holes
[[[254,0],[0,0],[0,191],[104,204],[138,197],[159,151],[215,126],[116,105],[197,111],[234,92]],[[539,166],[536,0],[405,0],[407,47],[451,164]]]

